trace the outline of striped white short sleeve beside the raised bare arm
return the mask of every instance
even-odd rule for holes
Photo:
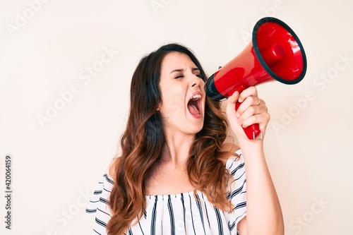
[[[227,195],[233,205],[232,211],[227,215],[231,234],[237,234],[237,224],[246,216],[246,174],[244,157],[241,150],[237,150],[235,153],[239,157],[230,157],[226,163],[226,168],[232,176],[229,182],[229,193]]]

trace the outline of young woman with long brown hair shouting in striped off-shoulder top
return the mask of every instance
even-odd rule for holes
[[[241,128],[258,123],[265,135],[265,102],[253,87],[234,92],[225,115],[206,97],[206,79],[180,44],[140,60],[121,156],[86,210],[94,234],[284,234],[263,139],[249,140]],[[227,119],[241,150],[225,143]]]

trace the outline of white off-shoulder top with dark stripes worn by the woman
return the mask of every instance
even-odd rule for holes
[[[227,197],[234,206],[231,212],[219,210],[201,191],[196,191],[195,196],[193,191],[146,195],[143,217],[137,224],[133,222],[135,225],[125,234],[237,234],[237,224],[246,215],[246,176],[241,150],[236,153],[240,157],[230,157],[225,165],[232,175],[227,187]],[[107,234],[106,227],[111,217],[109,196],[113,183],[109,174],[104,174],[88,203],[86,212],[95,216],[92,234]]]

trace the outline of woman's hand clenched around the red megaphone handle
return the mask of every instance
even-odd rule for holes
[[[241,102],[241,104],[236,111],[235,105],[237,102]],[[246,128],[255,123],[258,123],[262,137],[264,137],[268,121],[270,121],[270,114],[268,114],[265,102],[258,97],[255,87],[247,88],[240,95],[239,92],[234,92],[228,98],[226,113],[230,127],[239,141],[242,139],[249,140],[241,127]]]

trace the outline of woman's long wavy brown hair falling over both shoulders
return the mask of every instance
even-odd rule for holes
[[[165,144],[162,116],[157,112],[162,102],[160,71],[164,56],[181,52],[190,57],[207,77],[196,56],[181,44],[167,44],[143,57],[133,73],[130,88],[130,111],[126,131],[121,136],[121,156],[114,159],[115,179],[110,195],[112,217],[107,224],[108,234],[124,234],[133,219],[145,211],[145,180],[162,157]],[[220,160],[229,152],[221,146],[227,137],[227,122],[220,102],[206,97],[205,121],[196,134],[187,161],[189,180],[208,200],[221,210],[229,210],[226,197],[228,171]]]

